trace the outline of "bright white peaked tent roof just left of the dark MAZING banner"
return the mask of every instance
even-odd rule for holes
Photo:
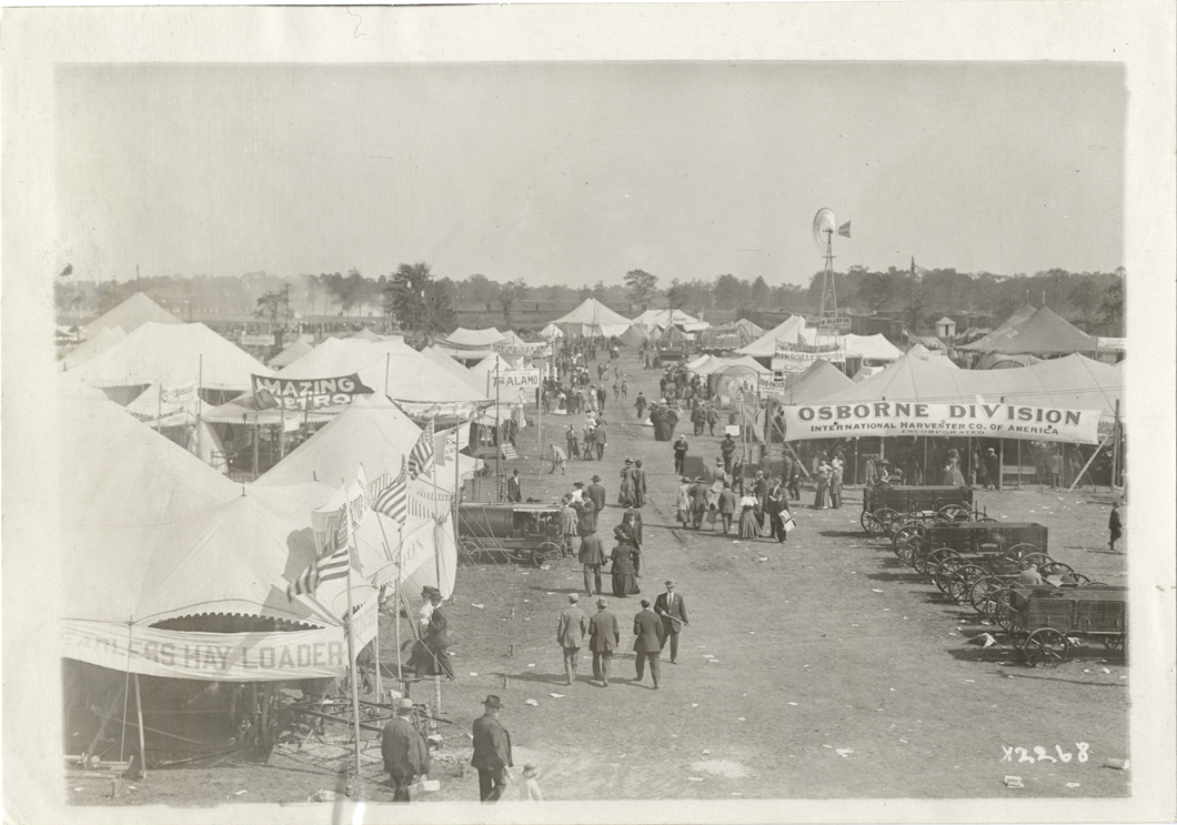
[[[251,374],[272,371],[204,324],[148,322],[71,372],[95,387],[175,387],[199,379],[206,388],[245,392]]]

